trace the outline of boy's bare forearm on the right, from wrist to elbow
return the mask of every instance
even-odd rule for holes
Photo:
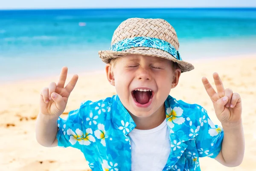
[[[241,164],[244,157],[244,132],[242,122],[222,125],[224,139],[221,146],[222,164],[235,167]],[[221,158],[222,158],[221,157]]]

